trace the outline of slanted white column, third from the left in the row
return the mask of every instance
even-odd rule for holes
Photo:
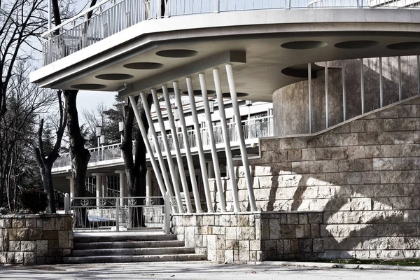
[[[160,104],[159,104],[159,99],[158,99],[158,92],[156,92],[154,88],[151,90],[151,92],[153,96],[153,103],[155,104],[156,116],[158,116],[158,122],[159,122],[159,127],[160,127],[160,133],[162,134],[163,146],[165,146],[165,151],[167,154],[169,174],[171,175],[172,186],[174,186],[176,204],[178,205],[178,209],[180,209],[180,212],[183,213],[181,193],[179,192],[178,181],[175,178],[174,161],[172,160],[171,149],[169,148],[168,137],[167,137],[166,129],[165,129],[165,123],[163,123],[162,111],[160,110]]]

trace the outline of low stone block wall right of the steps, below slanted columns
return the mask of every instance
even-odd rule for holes
[[[316,212],[175,214],[172,232],[217,262],[313,260],[324,257],[321,222]]]

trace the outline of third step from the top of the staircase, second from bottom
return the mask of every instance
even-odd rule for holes
[[[93,249],[93,250],[73,250],[71,256],[111,256],[111,255],[174,255],[194,253],[195,248],[187,247],[167,247],[167,248],[114,248],[114,249]]]

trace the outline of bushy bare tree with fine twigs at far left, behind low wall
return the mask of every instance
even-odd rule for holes
[[[31,176],[31,147],[34,144],[36,116],[50,108],[55,97],[29,83],[29,65],[18,62],[10,78],[6,100],[8,111],[0,120],[0,184],[6,186],[10,211],[16,209],[16,196],[22,177]],[[13,203],[11,203],[13,200]]]

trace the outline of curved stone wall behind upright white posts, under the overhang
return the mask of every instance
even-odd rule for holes
[[[361,113],[360,59],[328,62],[329,126],[343,121],[342,67],[346,76],[346,119]],[[325,66],[325,62],[318,63]],[[418,92],[416,57],[401,57],[402,99]],[[311,80],[312,132],[325,130],[325,71],[317,71]],[[384,106],[398,102],[398,58],[382,58]],[[363,59],[365,112],[379,109],[379,58]],[[274,135],[309,133],[308,82],[294,83],[273,93]]]

